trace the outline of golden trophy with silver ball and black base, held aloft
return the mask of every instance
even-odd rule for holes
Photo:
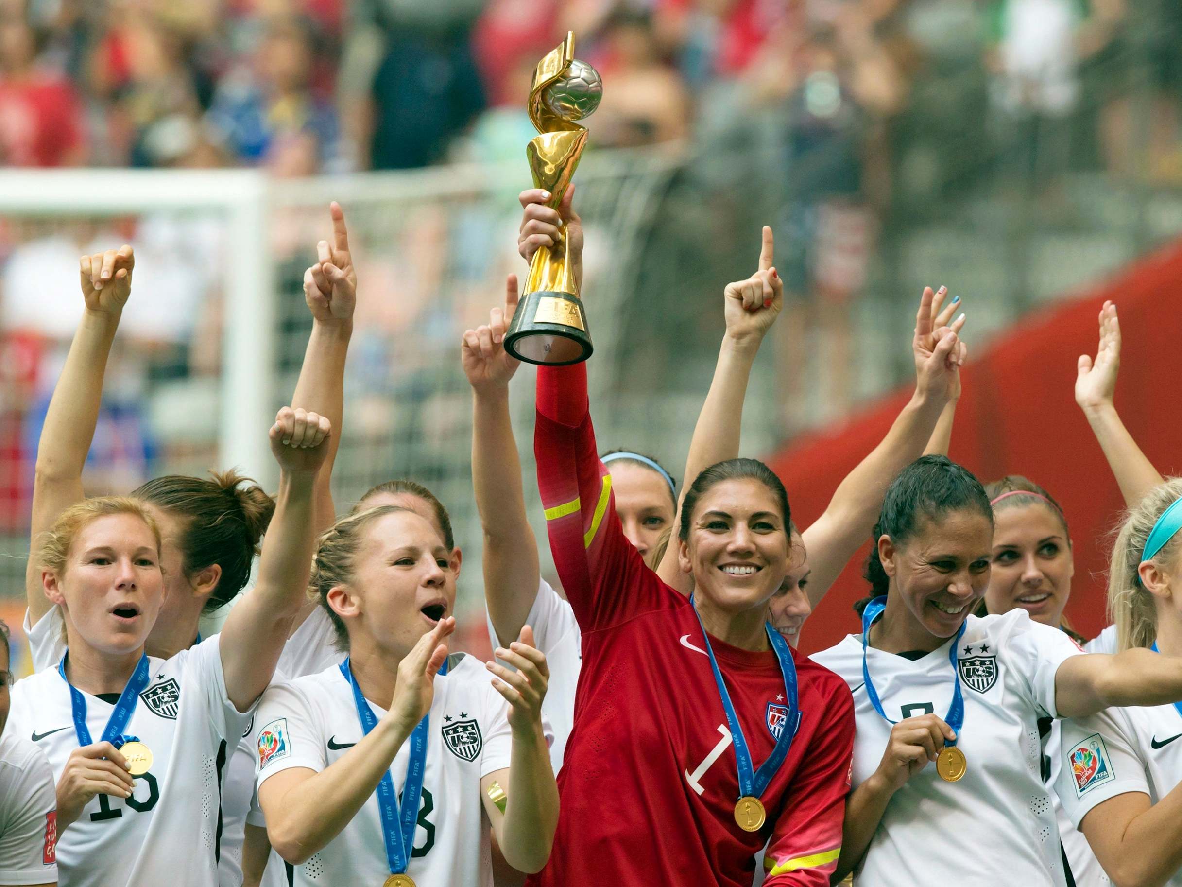
[[[530,88],[530,119],[541,135],[526,147],[535,188],[550,192],[558,208],[579,164],[587,131],[576,121],[589,116],[603,97],[599,73],[574,58],[574,33],[538,63]],[[565,226],[553,246],[533,254],[521,302],[505,350],[527,363],[563,367],[591,356],[591,336],[579,286],[566,254]]]

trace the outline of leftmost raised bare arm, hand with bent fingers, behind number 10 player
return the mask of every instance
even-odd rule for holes
[[[118,250],[83,255],[78,263],[82,321],[70,354],[53,388],[33,478],[32,539],[45,532],[63,511],[83,499],[82,470],[86,464],[103,400],[103,376],[123,306],[131,294],[136,258],[124,244]],[[41,588],[41,571],[30,558],[25,572],[28,623],[35,624],[51,607]]]

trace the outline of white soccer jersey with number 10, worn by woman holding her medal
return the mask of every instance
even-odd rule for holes
[[[213,887],[222,831],[222,776],[228,751],[249,721],[226,694],[219,637],[168,660],[149,659],[150,680],[124,732],[152,752],[130,798],[97,795],[63,830],[64,887]],[[98,740],[113,704],[83,694]],[[17,682],[8,729],[28,736],[54,779],[78,747],[70,687],[57,666]]]

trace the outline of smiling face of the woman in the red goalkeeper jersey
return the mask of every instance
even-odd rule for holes
[[[699,498],[678,540],[683,572],[695,594],[723,613],[766,607],[785,576],[800,570],[804,545],[791,545],[790,529],[775,494],[752,478],[723,480]]]

